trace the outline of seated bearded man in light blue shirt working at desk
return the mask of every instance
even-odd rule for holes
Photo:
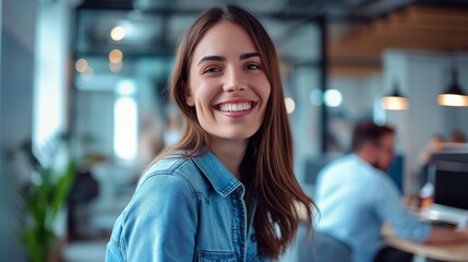
[[[371,121],[360,122],[353,130],[352,153],[334,160],[319,174],[316,229],[348,245],[353,262],[371,262],[376,258],[411,261],[410,254],[382,249],[384,222],[398,237],[413,241],[468,239],[467,230],[431,228],[405,209],[396,184],[384,172],[394,157],[394,129]],[[392,259],[394,255],[397,258]]]

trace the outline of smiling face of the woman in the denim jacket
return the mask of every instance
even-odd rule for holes
[[[221,21],[193,52],[185,99],[201,127],[216,139],[247,140],[261,127],[271,86],[250,36]]]

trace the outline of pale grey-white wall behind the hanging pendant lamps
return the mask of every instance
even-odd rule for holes
[[[437,95],[449,83],[451,68],[455,64],[459,83],[468,92],[468,56],[427,51],[389,50],[384,55],[386,85],[398,79],[409,109],[387,111],[387,122],[397,128],[398,145],[405,156],[405,191],[409,193],[417,175],[418,155],[433,134],[448,138],[455,129],[468,133],[468,108],[452,108],[437,105]]]

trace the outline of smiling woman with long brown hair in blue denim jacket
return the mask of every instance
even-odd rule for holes
[[[298,204],[311,224],[313,202],[292,171],[279,74],[275,47],[250,13],[229,5],[199,16],[170,80],[184,132],[146,168],[107,261],[267,261],[285,252]]]

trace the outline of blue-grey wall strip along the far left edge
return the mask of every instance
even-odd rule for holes
[[[4,0],[0,5],[0,253],[9,261],[25,261],[16,234],[20,186],[27,170],[15,165],[13,150],[32,132],[36,7],[33,0]]]

